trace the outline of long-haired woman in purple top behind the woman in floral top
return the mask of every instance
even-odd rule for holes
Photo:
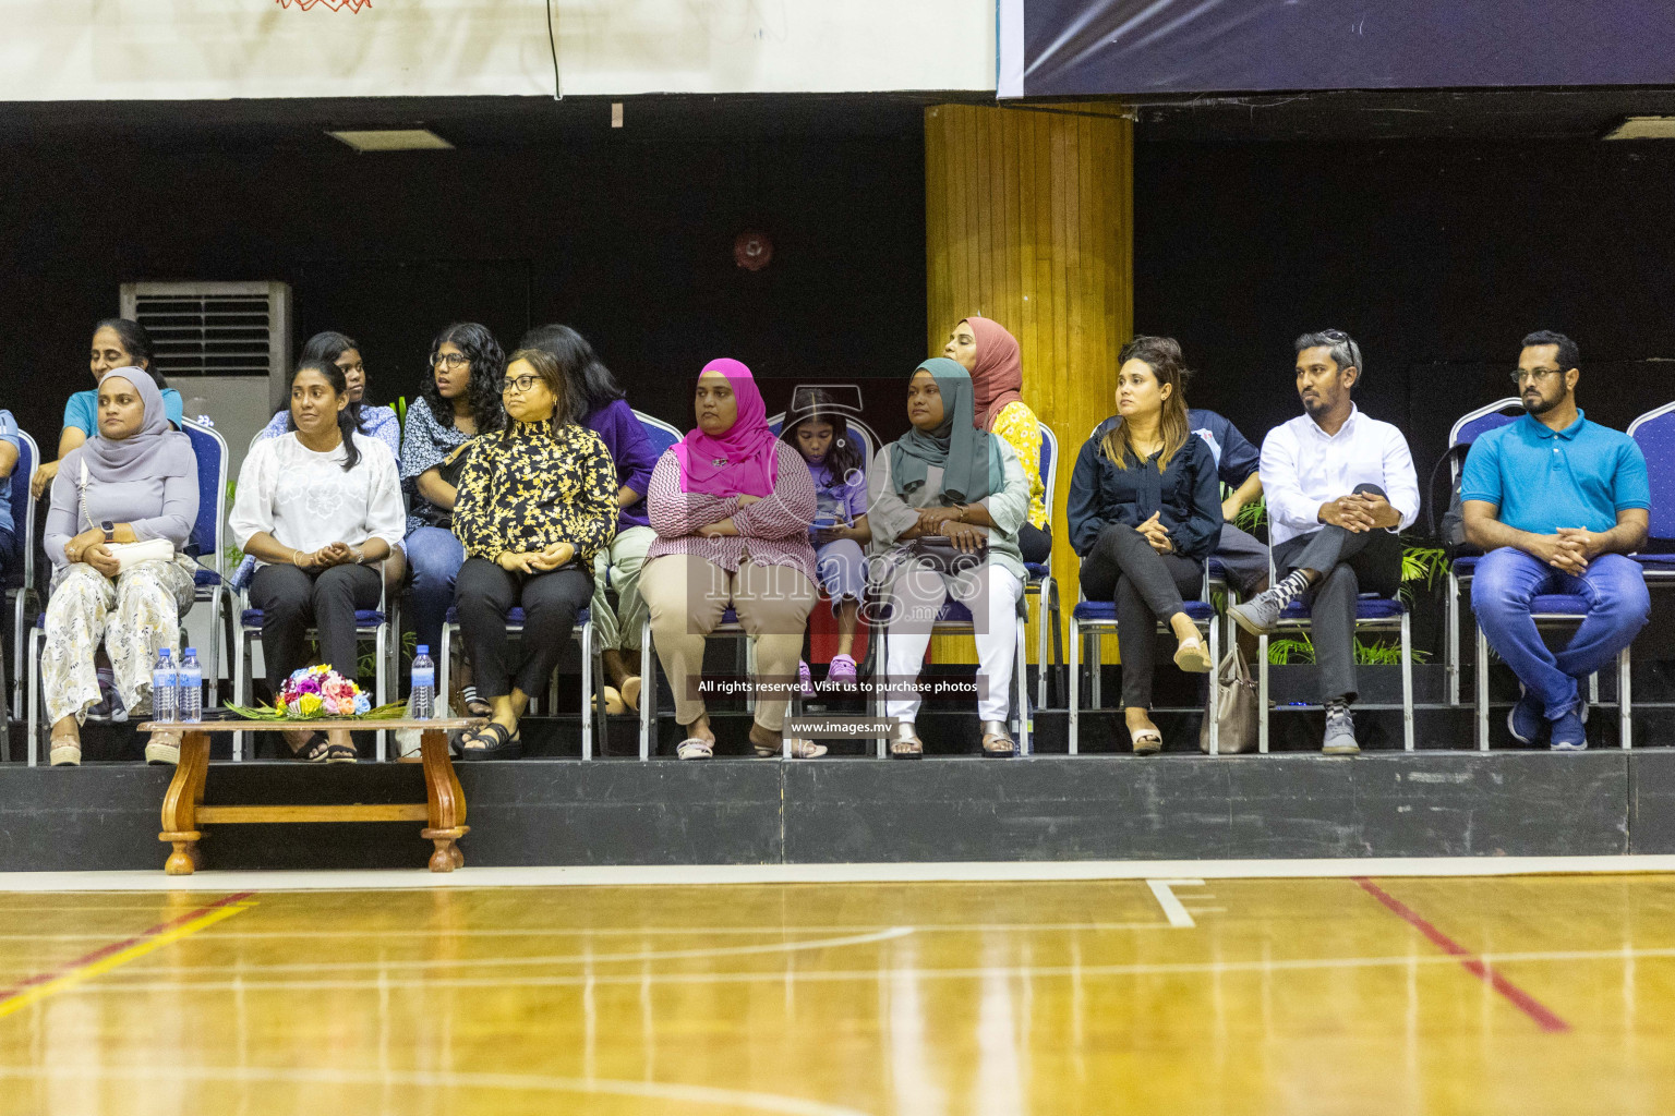
[[[588,611],[605,659],[605,709],[638,709],[640,629],[647,614],[645,601],[640,599],[640,567],[645,566],[645,552],[657,540],[645,494],[652,487],[657,450],[628,407],[616,376],[585,336],[570,326],[539,326],[524,335],[519,348],[539,348],[558,360],[566,393],[581,400],[581,425],[600,435],[616,463],[616,539],[608,547],[600,547],[593,561],[593,601],[588,602]],[[606,587],[616,591],[615,607]]]

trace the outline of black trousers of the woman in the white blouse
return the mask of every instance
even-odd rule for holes
[[[308,666],[308,629],[320,637],[320,661],[355,678],[355,609],[379,607],[375,566],[307,571],[263,566],[250,582],[250,604],[261,609],[261,658],[275,693],[285,678]]]

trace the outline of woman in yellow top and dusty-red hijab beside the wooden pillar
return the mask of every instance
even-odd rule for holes
[[[1018,465],[1030,479],[1030,512],[1018,527],[1018,549],[1025,562],[1045,566],[1052,555],[1052,527],[1047,524],[1047,485],[1042,484],[1042,428],[1023,402],[1018,340],[998,321],[972,315],[955,325],[943,356],[972,373],[977,428],[1000,435],[1018,452]]]

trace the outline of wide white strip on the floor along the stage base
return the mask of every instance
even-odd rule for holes
[[[161,852],[161,850],[159,850]],[[466,843],[469,855],[469,838]],[[1340,860],[1030,860],[956,863],[601,865],[548,868],[424,868],[389,872],[0,872],[0,892],[313,892],[429,890],[437,887],[685,887],[700,883],[990,883],[1055,880],[1290,880],[1372,877],[1486,877],[1563,873],[1675,873],[1660,857],[1407,857]],[[0,914],[7,907],[0,904]]]

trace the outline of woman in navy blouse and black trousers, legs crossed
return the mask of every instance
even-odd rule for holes
[[[1198,597],[1221,539],[1216,458],[1186,422],[1186,366],[1174,338],[1137,336],[1117,355],[1117,413],[1094,430],[1070,477],[1070,547],[1082,592],[1117,606],[1122,706],[1136,755],[1154,755],[1154,632],[1174,631],[1174,663],[1208,673],[1209,653],[1183,606]]]

